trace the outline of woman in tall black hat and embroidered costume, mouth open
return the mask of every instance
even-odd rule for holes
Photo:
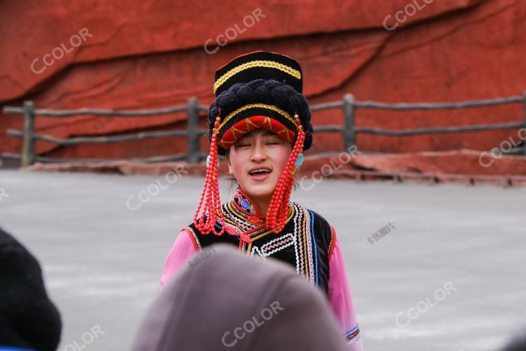
[[[277,258],[327,294],[347,343],[362,350],[336,231],[318,213],[289,201],[303,151],[312,145],[302,91],[301,66],[277,53],[247,53],[216,71],[205,186],[193,223],[181,230],[168,254],[161,284],[196,252],[218,242],[263,260]],[[225,204],[218,190],[219,155],[239,184]]]

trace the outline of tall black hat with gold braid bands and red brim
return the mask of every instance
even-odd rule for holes
[[[219,154],[224,155],[240,136],[256,128],[271,130],[294,143],[295,114],[306,133],[303,149],[308,149],[312,144],[312,125],[302,92],[303,72],[299,62],[279,53],[254,51],[222,66],[216,71],[216,101],[208,114],[210,138],[216,117],[221,117],[217,135]]]

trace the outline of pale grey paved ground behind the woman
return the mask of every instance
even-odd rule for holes
[[[157,181],[166,189],[127,207]],[[128,350],[202,182],[0,171],[0,226],[42,263],[60,350]],[[525,188],[325,180],[293,200],[338,230],[366,350],[497,350],[526,330]]]

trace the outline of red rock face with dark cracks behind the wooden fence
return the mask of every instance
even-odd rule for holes
[[[125,10],[123,10],[125,9]],[[292,0],[3,1],[0,3],[0,101],[37,108],[158,108],[196,96],[214,99],[214,71],[254,50],[301,62],[311,104],[341,100],[440,102],[522,95],[526,90],[526,1]],[[387,29],[386,29],[387,28]],[[226,41],[226,44],[225,44]],[[221,43],[223,46],[218,46]],[[208,53],[207,53],[208,51]],[[462,73],[463,72],[463,73]],[[393,130],[520,122],[521,104],[466,110],[356,111],[356,125]],[[204,118],[204,117],[203,117]],[[37,132],[68,136],[184,128],[184,113],[162,117],[38,117]],[[20,152],[5,136],[20,115],[0,115],[0,152]],[[314,112],[314,125],[341,124],[340,109]],[[98,126],[98,127],[97,127]],[[203,121],[203,127],[205,126]],[[489,150],[516,130],[410,137],[358,134],[371,152]],[[315,135],[312,153],[344,149],[341,137]],[[208,141],[203,138],[203,152]],[[63,158],[129,158],[184,152],[182,138],[57,147]]]

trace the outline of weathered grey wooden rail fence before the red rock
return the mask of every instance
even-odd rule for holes
[[[375,108],[381,110],[453,110],[462,108],[480,108],[486,106],[495,106],[501,104],[522,104],[524,110],[523,121],[508,122],[508,123],[494,123],[485,125],[463,125],[455,127],[436,127],[436,128],[420,128],[420,129],[406,129],[406,130],[385,130],[371,127],[356,127],[355,126],[355,112],[360,108]],[[436,134],[436,133],[454,133],[454,132],[476,132],[480,130],[497,130],[497,129],[515,129],[526,128],[526,92],[523,96],[502,97],[497,99],[477,100],[477,101],[461,101],[461,102],[445,102],[445,103],[416,103],[416,104],[385,104],[377,101],[355,101],[353,95],[346,94],[342,101],[334,101],[325,104],[318,104],[310,106],[311,111],[326,110],[330,108],[341,108],[344,116],[343,125],[322,125],[314,127],[314,132],[336,132],[343,136],[345,141],[345,150],[355,145],[356,134],[380,134],[388,136],[411,136],[418,134]],[[73,138],[55,138],[54,136],[46,134],[36,134],[34,131],[35,118],[39,117],[55,117],[67,118],[78,115],[94,115],[117,118],[132,118],[132,117],[146,117],[158,116],[162,114],[173,114],[175,112],[186,111],[187,125],[186,130],[168,130],[161,132],[141,132],[134,134],[123,134],[116,136],[82,136]],[[23,107],[4,106],[4,113],[23,114],[24,126],[23,130],[8,130],[7,134],[15,138],[23,139],[22,154],[3,153],[2,157],[5,159],[21,160],[21,166],[27,167],[33,165],[34,162],[104,162],[109,159],[64,159],[64,158],[48,158],[35,155],[34,145],[35,141],[48,141],[58,145],[75,145],[82,143],[118,143],[121,141],[134,141],[145,138],[168,138],[168,137],[186,137],[187,151],[184,154],[175,154],[170,156],[153,156],[149,158],[134,158],[142,162],[166,162],[175,160],[186,160],[188,163],[197,163],[203,160],[207,154],[201,153],[199,147],[199,138],[208,135],[208,130],[199,128],[199,112],[208,111],[207,106],[199,105],[195,97],[188,99],[186,105],[174,106],[170,108],[161,108],[155,110],[104,110],[99,108],[81,108],[79,110],[48,110],[37,109],[33,101],[25,101]],[[512,153],[521,152],[526,154],[526,145],[521,151],[514,149]]]

